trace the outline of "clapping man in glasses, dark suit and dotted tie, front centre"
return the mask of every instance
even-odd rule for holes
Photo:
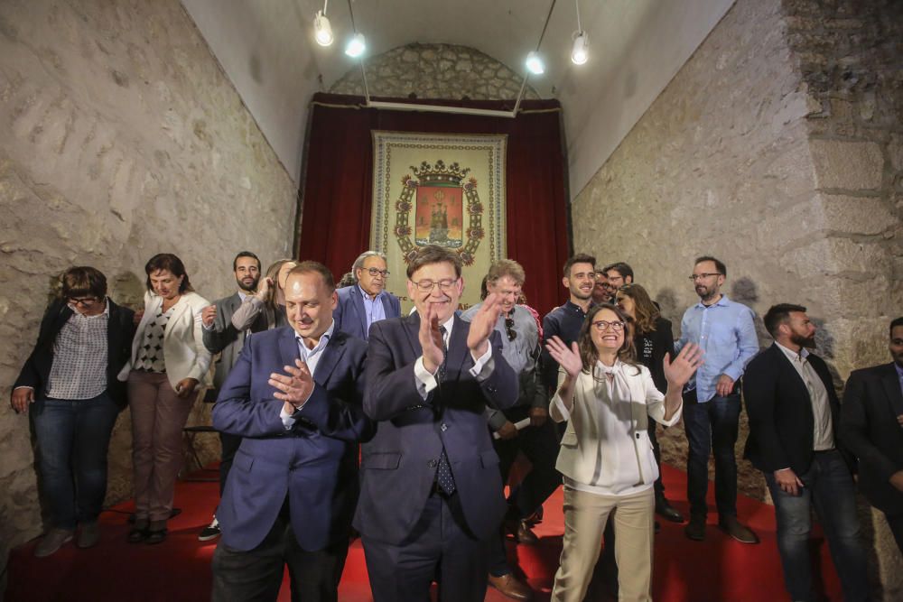
[[[407,268],[416,313],[370,329],[364,411],[377,434],[363,446],[354,526],[375,602],[481,601],[486,540],[505,513],[498,456],[484,414],[517,401],[517,375],[494,332],[489,295],[470,324],[455,315],[461,258],[437,245]]]

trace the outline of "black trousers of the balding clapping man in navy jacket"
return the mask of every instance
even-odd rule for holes
[[[345,538],[323,550],[305,551],[295,540],[288,513],[281,512],[254,550],[238,551],[219,542],[213,553],[213,602],[275,601],[286,564],[293,602],[337,602],[348,545]]]

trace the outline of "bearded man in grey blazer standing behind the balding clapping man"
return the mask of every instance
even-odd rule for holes
[[[213,304],[205,308],[201,314],[204,326],[204,347],[210,353],[219,353],[216,362],[216,371],[213,375],[213,393],[219,392],[219,388],[226,380],[226,376],[235,366],[238,354],[245,347],[245,338],[252,332],[259,332],[270,327],[265,311],[260,311],[253,320],[245,323],[233,323],[233,316],[241,304],[251,295],[255,294],[260,282],[260,260],[257,255],[249,251],[242,251],[232,260],[232,271],[235,273],[235,282],[238,290],[234,294],[223,299],[213,301]],[[222,495],[226,486],[229,468],[232,468],[232,458],[241,444],[241,437],[225,432],[219,433],[219,441],[222,444],[222,455],[219,461],[219,494]],[[209,526],[204,527],[198,534],[201,542],[207,542],[219,537],[219,523],[216,516]]]

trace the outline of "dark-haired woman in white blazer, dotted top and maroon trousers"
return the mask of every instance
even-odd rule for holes
[[[191,289],[182,260],[154,255],[144,266],[144,312],[132,341],[131,361],[119,374],[128,380],[135,470],[132,543],[160,543],[172,514],[172,492],[182,468],[182,428],[198,385],[208,380],[201,312],[209,301]]]

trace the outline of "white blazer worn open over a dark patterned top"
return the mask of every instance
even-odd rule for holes
[[[172,388],[183,378],[194,378],[200,386],[209,386],[210,352],[204,347],[203,323],[200,312],[209,305],[209,301],[196,292],[182,293],[172,311],[172,317],[166,322],[163,331],[163,357],[166,361],[166,375]],[[144,328],[156,317],[163,306],[163,297],[154,292],[144,293],[144,316],[135,330],[132,339],[132,358],[119,373],[119,380],[128,379],[135,362],[138,360],[138,349],[144,341]]]

